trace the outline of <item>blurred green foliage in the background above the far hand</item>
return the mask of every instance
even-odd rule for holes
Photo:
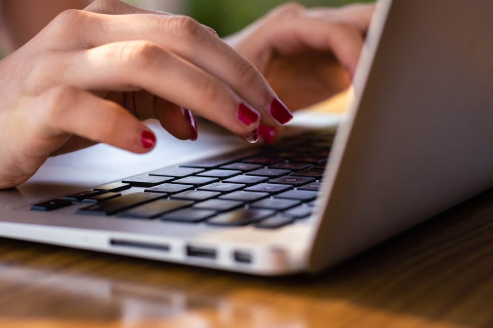
[[[286,0],[189,0],[188,15],[202,24],[210,26],[219,35],[234,33],[250,24],[270,9],[288,2]],[[299,3],[312,6],[341,6],[352,2],[370,0],[299,0]]]

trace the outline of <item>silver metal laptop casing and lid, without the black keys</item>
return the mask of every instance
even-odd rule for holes
[[[135,155],[105,145],[50,158],[0,190],[0,236],[260,275],[319,271],[493,186],[493,2],[378,3],[309,219],[279,229],[75,215],[32,204],[246,147],[157,125]],[[249,151],[250,147],[245,151]]]

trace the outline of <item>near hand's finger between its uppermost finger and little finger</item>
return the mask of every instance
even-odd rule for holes
[[[258,125],[258,112],[233,90],[157,44],[116,42],[70,53],[65,60],[70,63],[64,65],[64,79],[81,89],[144,89],[239,135]]]

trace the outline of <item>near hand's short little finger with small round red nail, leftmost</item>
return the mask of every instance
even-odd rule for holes
[[[42,140],[75,134],[137,153],[149,151],[156,141],[152,131],[125,108],[73,87],[43,92],[35,114]]]

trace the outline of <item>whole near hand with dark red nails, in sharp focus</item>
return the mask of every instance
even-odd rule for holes
[[[193,140],[197,113],[254,141],[259,122],[292,117],[213,30],[119,0],[61,13],[0,71],[0,188],[26,181],[52,154],[98,142],[147,152],[155,137],[143,119]]]

